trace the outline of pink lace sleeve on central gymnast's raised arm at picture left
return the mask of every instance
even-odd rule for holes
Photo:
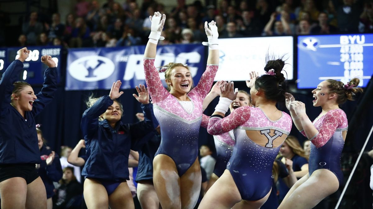
[[[144,58],[144,72],[145,82],[153,103],[162,101],[168,95],[168,91],[163,87],[159,73],[154,67],[153,58]]]

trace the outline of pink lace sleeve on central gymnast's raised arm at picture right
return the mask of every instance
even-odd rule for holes
[[[206,95],[209,93],[218,68],[219,65],[216,64],[207,65],[200,81],[198,81],[197,86],[194,88],[194,90],[197,91],[198,94],[200,94],[200,97],[205,98]]]

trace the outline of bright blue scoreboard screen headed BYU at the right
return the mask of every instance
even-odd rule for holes
[[[359,87],[366,87],[373,74],[372,55],[373,34],[298,36],[298,89],[355,77]]]

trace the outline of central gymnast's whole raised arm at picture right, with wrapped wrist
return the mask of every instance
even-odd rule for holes
[[[200,93],[202,98],[205,98],[207,93],[209,93],[209,89],[214,82],[217,69],[219,68],[219,42],[217,40],[219,33],[217,32],[216,22],[211,21],[208,24],[205,22],[205,32],[209,42],[202,42],[202,44],[209,46],[209,57],[207,57],[206,70],[194,89]]]

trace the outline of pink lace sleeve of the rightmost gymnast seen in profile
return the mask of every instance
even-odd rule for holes
[[[336,129],[347,121],[346,115],[338,110],[330,110],[321,121],[319,132],[310,141],[317,147],[322,147],[332,137]]]

